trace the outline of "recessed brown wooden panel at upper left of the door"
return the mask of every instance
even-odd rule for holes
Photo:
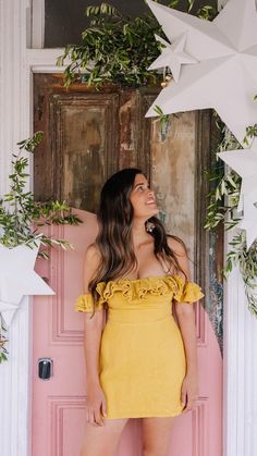
[[[50,99],[53,165],[59,169],[53,193],[75,208],[93,212],[99,188],[118,165],[118,94],[53,95]]]

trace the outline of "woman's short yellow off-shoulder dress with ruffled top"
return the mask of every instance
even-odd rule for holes
[[[99,354],[107,419],[181,414],[186,360],[172,301],[194,303],[200,287],[163,275],[100,282],[97,292],[97,308],[108,308]],[[81,295],[75,309],[91,312],[91,294]]]

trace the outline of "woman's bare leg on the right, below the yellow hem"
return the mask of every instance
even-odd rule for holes
[[[168,456],[174,418],[143,418],[143,455]]]

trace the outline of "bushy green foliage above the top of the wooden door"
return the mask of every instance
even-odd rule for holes
[[[173,0],[169,5],[179,9],[180,3],[180,0]],[[194,3],[195,0],[187,0],[188,12]],[[210,5],[197,12],[199,17],[207,20],[216,14],[216,8]],[[164,38],[151,13],[140,17],[124,16],[111,4],[101,3],[88,7],[86,16],[90,23],[82,33],[82,44],[68,45],[57,61],[60,66],[69,61],[64,70],[66,87],[76,79],[98,89],[105,84],[142,87],[160,79],[157,71],[148,70],[163,46],[156,40],[155,34]]]

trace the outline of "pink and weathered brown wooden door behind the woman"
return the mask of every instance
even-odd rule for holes
[[[83,224],[59,229],[75,250],[56,251],[50,262],[38,264],[57,294],[34,303],[33,456],[78,455],[86,386],[83,317],[73,305],[82,287],[84,251],[97,232],[93,212],[99,188],[125,167],[142,168],[149,175],[161,218],[188,245],[192,272],[206,291],[205,307],[196,309],[199,399],[192,412],[176,419],[171,456],[221,456],[219,261],[213,254],[221,243],[203,229],[207,193],[203,170],[209,165],[213,130],[209,111],[173,116],[162,126],[146,120],[155,96],[155,90],[93,93],[86,86],[66,93],[58,78],[35,76],[35,130],[46,133],[35,157],[35,193],[38,199],[65,199]],[[38,377],[41,358],[52,360],[49,380]],[[130,420],[118,455],[142,455],[140,420]]]

